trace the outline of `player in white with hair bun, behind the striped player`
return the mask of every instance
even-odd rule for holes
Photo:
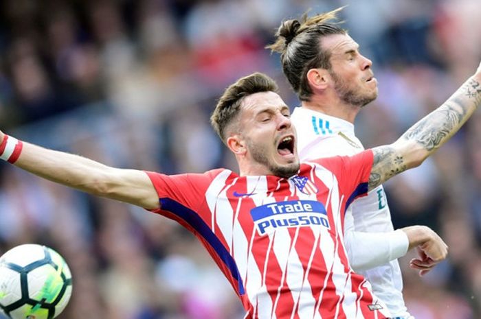
[[[298,129],[302,161],[362,152],[355,117],[377,97],[372,62],[359,53],[347,30],[339,27],[339,10],[285,21],[276,33],[276,43],[268,46],[280,52],[282,71],[301,101],[291,120]],[[350,205],[344,241],[351,267],[368,279],[392,316],[412,318],[404,304],[397,261],[407,252],[407,237],[403,231],[394,231],[382,185]],[[435,264],[424,256],[411,262],[421,274]]]

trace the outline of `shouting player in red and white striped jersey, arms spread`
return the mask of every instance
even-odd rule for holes
[[[398,141],[354,156],[300,164],[289,108],[261,73],[226,89],[212,124],[239,173],[167,176],[118,169],[23,143],[0,132],[0,158],[54,182],[144,207],[201,241],[238,294],[245,318],[388,318],[370,284],[348,265],[342,224],[358,196],[420,165],[481,104],[481,66],[454,95]],[[413,232],[433,260],[447,247]]]

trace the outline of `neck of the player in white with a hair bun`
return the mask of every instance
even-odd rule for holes
[[[331,117],[344,119],[344,121],[353,124],[357,113],[361,110],[361,106],[346,104],[340,99],[329,99],[320,95],[311,96],[310,101],[302,101],[301,105],[303,108],[309,108],[309,110],[315,110]]]

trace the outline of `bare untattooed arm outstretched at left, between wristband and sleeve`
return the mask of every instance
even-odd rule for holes
[[[5,134],[0,132],[0,141]],[[158,209],[159,198],[145,172],[118,169],[89,158],[23,142],[14,165],[32,174],[96,196]]]

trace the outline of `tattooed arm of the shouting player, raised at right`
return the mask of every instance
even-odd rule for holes
[[[406,169],[421,165],[448,141],[481,104],[481,64],[469,80],[432,113],[418,121],[396,142],[374,147],[369,189]]]

